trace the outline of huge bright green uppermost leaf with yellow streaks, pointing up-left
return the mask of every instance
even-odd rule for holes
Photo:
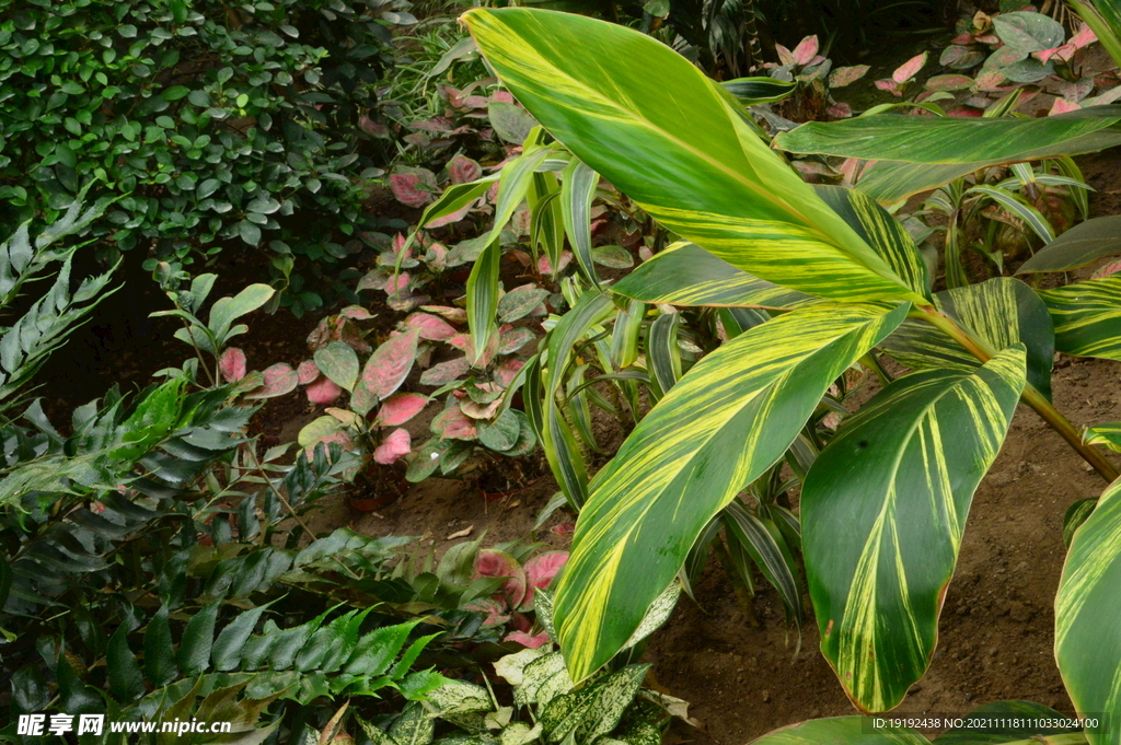
[[[463,16],[499,77],[593,170],[684,239],[751,273],[843,300],[917,300],[669,47],[544,10]]]

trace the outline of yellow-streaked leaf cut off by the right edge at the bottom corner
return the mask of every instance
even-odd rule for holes
[[[1102,715],[1091,745],[1121,743],[1121,479],[1074,533],[1055,598],[1055,659],[1081,715]]]

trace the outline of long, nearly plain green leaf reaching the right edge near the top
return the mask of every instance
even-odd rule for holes
[[[1121,106],[1045,119],[881,114],[812,122],[775,139],[780,150],[874,160],[856,186],[896,204],[988,166],[1095,152],[1121,145]]]

